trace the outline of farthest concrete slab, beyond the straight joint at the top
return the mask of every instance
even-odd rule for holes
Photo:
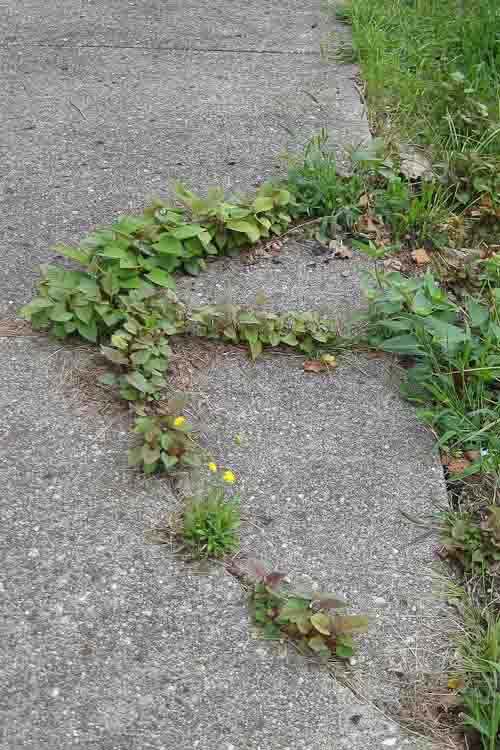
[[[319,3],[300,0],[27,0],[6,4],[0,39],[9,44],[180,47],[318,53]]]

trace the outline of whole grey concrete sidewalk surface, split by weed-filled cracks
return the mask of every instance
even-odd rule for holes
[[[172,178],[249,190],[323,125],[339,153],[367,137],[354,71],[319,54],[316,0],[4,0],[0,33],[0,323],[54,242]],[[281,309],[361,304],[358,260],[320,264],[293,244],[281,260],[214,265],[180,287],[191,303],[264,287]],[[337,679],[252,638],[221,568],[148,542],[180,500],[127,470],[127,418],[89,397],[89,357],[0,336],[2,750],[423,747],[344,685],[397,701],[390,665],[435,650],[431,548],[410,544],[398,509],[431,509],[442,478],[385,365],[316,378],[299,360],[223,353],[193,375],[207,445],[241,481],[244,549],[371,615],[358,664]]]

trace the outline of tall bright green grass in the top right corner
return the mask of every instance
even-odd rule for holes
[[[500,153],[497,0],[350,0],[354,56],[374,121],[433,147]]]

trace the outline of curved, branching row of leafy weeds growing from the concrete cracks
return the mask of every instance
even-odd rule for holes
[[[218,191],[203,200],[181,186],[176,197],[174,206],[155,201],[141,216],[121,217],[78,247],[58,245],[56,252],[83,270],[43,266],[38,294],[21,314],[58,339],[76,335],[99,346],[110,364],[101,385],[129,403],[132,431],[140,436],[129,451],[131,465],[146,475],[203,464],[213,473],[208,488],[188,499],[177,536],[190,555],[223,558],[238,549],[239,497],[228,498],[225,489],[236,477],[231,469],[220,471],[200,448],[181,413],[182,400],[163,400],[169,339],[196,335],[245,344],[255,358],[266,346],[310,356],[321,347],[335,349],[340,335],[334,321],[311,312],[274,315],[237,306],[187,311],[175,295],[174,272],[198,274],[209,256],[233,255],[282,235],[297,210],[290,192],[272,184],[248,203],[227,203]],[[232,569],[250,589],[264,637],[286,637],[323,658],[352,656],[353,634],[367,621],[342,612],[347,603],[329,593],[296,591],[263,563],[236,568],[233,562]]]

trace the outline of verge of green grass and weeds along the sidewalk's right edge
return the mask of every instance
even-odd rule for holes
[[[469,746],[495,750],[500,7],[496,0],[350,0],[336,12],[352,26],[352,48],[344,45],[339,54],[360,65],[372,129],[389,150],[396,144],[397,152],[401,140],[423,147],[433,164],[433,177],[421,190],[431,193],[430,205],[442,213],[436,222],[427,212],[425,233],[417,237],[441,253],[424,279],[374,275],[368,288],[371,343],[409,362],[406,395],[442,452],[451,504],[440,519],[443,556],[459,564],[467,591],[458,695],[464,724],[474,734]],[[436,241],[443,227],[445,236]],[[450,247],[461,257],[458,266],[449,262]]]

